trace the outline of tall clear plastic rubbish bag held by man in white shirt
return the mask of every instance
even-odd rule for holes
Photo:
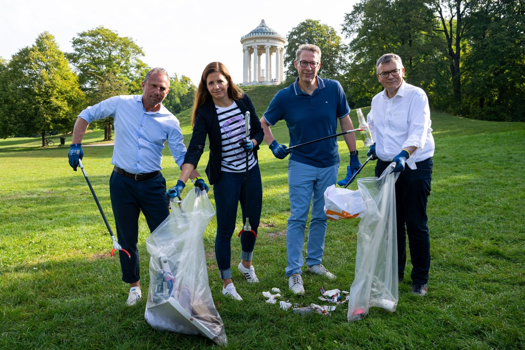
[[[394,166],[391,163],[379,179],[358,180],[366,213],[359,223],[348,321],[361,320],[371,306],[388,312],[397,306],[395,181],[399,173],[392,173]]]

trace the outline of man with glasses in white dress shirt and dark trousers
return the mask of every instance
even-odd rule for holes
[[[426,206],[434,156],[428,98],[421,88],[406,83],[405,68],[395,54],[377,60],[376,75],[385,89],[374,96],[367,116],[376,141],[367,155],[378,158],[375,176],[391,162],[396,163],[393,171],[400,172],[395,184],[398,279],[404,277],[408,235],[412,293],[425,295],[430,267]]]

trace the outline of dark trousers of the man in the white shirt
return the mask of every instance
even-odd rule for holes
[[[379,177],[391,162],[377,160],[375,176]],[[430,269],[430,238],[426,205],[432,181],[432,158],[416,162],[417,169],[405,166],[395,183],[397,219],[397,272],[404,276],[406,236],[412,260],[412,283],[427,283]],[[405,230],[406,225],[406,230]]]

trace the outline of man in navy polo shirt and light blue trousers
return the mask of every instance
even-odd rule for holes
[[[270,126],[274,126],[281,119],[285,120],[288,126],[290,147],[334,135],[337,133],[338,119],[342,130],[353,129],[348,116],[350,108],[341,84],[336,80],[321,79],[317,76],[320,61],[319,47],[311,44],[299,46],[296,60],[293,62],[299,77],[295,83],[277,92],[260,119],[265,132],[264,140],[279,159],[284,159],[288,152],[285,145],[277,143]],[[355,150],[355,136],[353,133],[346,134],[344,140],[350,150],[350,169],[354,172],[361,167]],[[324,190],[337,181],[340,159],[336,138],[298,147],[291,153],[288,162],[290,217],[286,231],[286,276],[289,278],[290,290],[295,294],[303,294],[302,249],[310,202],[312,219],[307,244],[308,271],[329,279],[336,278],[321,264],[328,220],[323,210],[323,195]]]

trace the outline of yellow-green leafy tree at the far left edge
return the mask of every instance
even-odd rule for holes
[[[71,130],[85,94],[64,53],[48,32],[13,55],[1,74],[0,136]]]

